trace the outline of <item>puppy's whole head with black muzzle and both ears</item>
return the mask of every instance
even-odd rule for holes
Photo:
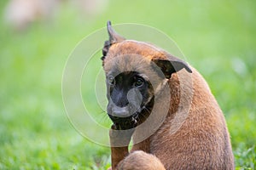
[[[183,60],[146,42],[125,40],[108,21],[108,41],[102,49],[106,73],[108,116],[117,129],[129,129],[150,115],[156,94],[173,73],[183,68]]]

